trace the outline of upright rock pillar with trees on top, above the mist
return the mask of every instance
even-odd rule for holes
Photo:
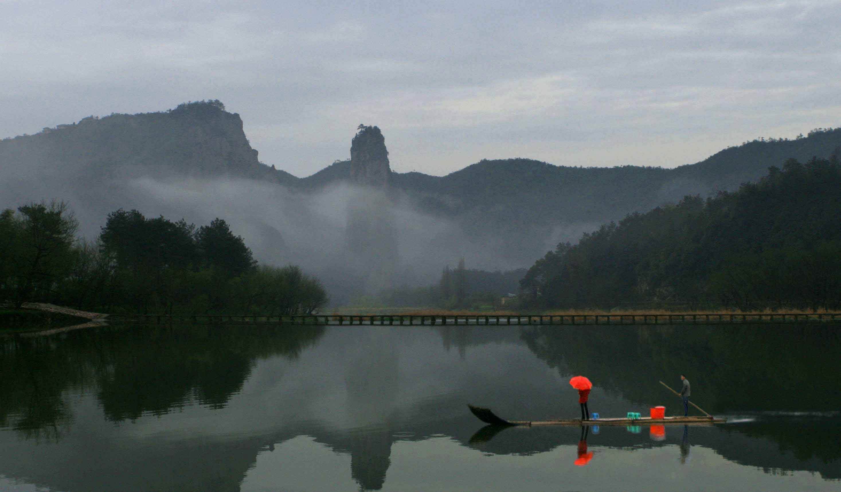
[[[391,167],[383,132],[376,126],[360,124],[351,142],[351,180],[376,188],[389,186]]]

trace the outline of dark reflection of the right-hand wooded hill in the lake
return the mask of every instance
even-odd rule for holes
[[[803,388],[807,381],[841,386],[841,331],[831,327],[592,326],[587,336],[569,336],[535,326],[523,340],[548,365],[588,374],[600,388],[644,405],[669,397],[658,381],[680,383],[684,373],[691,400],[713,413],[838,410],[836,394]],[[680,400],[669,402],[676,413]]]

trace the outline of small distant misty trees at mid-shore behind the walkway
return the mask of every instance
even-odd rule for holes
[[[500,307],[502,296],[517,292],[518,283],[525,273],[525,268],[506,272],[467,268],[462,258],[455,268],[449,265],[443,268],[438,283],[383,291],[379,303],[444,309],[496,309]]]

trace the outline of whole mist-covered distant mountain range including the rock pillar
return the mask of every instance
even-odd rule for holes
[[[434,282],[460,257],[473,268],[525,267],[606,221],[733,189],[788,157],[827,157],[841,147],[841,130],[819,130],[674,169],[509,159],[434,177],[392,172],[389,157],[400,157],[389,156],[388,129],[357,130],[350,160],[300,178],[282,162],[259,161],[240,116],[219,101],[88,117],[0,141],[0,208],[62,199],[90,238],[120,208],[196,224],[221,217],[257,259],[300,264],[341,300]]]

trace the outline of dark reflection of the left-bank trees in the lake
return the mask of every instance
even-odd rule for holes
[[[0,425],[56,441],[72,420],[67,392],[98,387],[111,421],[162,415],[198,401],[225,407],[259,358],[295,358],[322,326],[136,326],[10,340],[2,346]]]

